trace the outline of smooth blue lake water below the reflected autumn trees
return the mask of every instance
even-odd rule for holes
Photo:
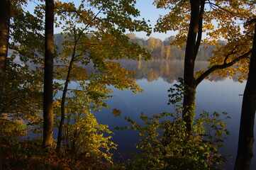
[[[109,128],[113,130],[116,126],[129,125],[124,117],[129,117],[140,123],[140,112],[145,115],[152,116],[163,111],[172,112],[173,109],[167,105],[168,93],[172,84],[169,84],[162,78],[154,81],[147,79],[138,79],[138,85],[143,89],[143,93],[133,94],[131,91],[113,90],[115,98],[108,101],[111,109],[117,108],[120,110],[121,116],[116,117],[111,114],[111,109],[104,109],[101,113],[96,113],[96,118],[99,123],[108,124]],[[174,81],[176,83],[176,81]],[[202,113],[202,110],[213,113],[214,111],[222,113],[227,112],[231,119],[226,120],[230,135],[225,142],[225,148],[221,149],[222,154],[232,155],[224,166],[226,169],[233,169],[235,162],[236,149],[238,146],[238,130],[240,124],[240,111],[245,83],[240,84],[234,82],[232,79],[223,79],[222,81],[202,81],[198,86],[196,92],[196,115]],[[138,132],[133,130],[117,130],[114,131],[113,142],[118,144],[118,150],[115,151],[114,156],[118,152],[126,153],[126,159],[129,158],[127,153],[135,152],[135,143],[138,143]],[[255,150],[256,152],[256,150]],[[256,167],[255,158],[252,160],[252,169]]]

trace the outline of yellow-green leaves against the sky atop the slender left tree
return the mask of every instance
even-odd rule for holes
[[[78,6],[74,3],[57,1],[56,6],[56,12],[60,16],[57,26],[61,26],[64,30],[80,24],[89,32],[109,28],[122,32],[126,30],[130,32],[144,30],[148,34],[151,32],[144,20],[138,21],[132,18],[140,15],[133,0],[81,1]]]

